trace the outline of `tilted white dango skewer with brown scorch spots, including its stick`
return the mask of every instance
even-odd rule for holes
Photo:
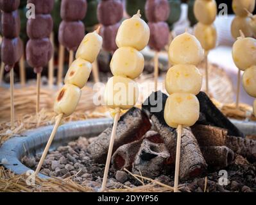
[[[99,51],[102,47],[102,38],[99,36],[98,32],[94,31],[85,35],[78,51],[76,52],[76,60],[73,61],[71,67],[65,76],[65,85],[60,89],[55,99],[54,111],[57,113],[55,126],[44,152],[40,158],[37,169],[35,171],[35,176],[40,172],[42,163],[46,158],[49,147],[55,138],[56,131],[60,126],[63,117],[71,115],[81,97],[81,88],[87,83],[90,72],[92,70],[92,62],[96,60]]]

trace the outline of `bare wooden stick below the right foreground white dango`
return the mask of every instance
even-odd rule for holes
[[[182,141],[182,125],[179,125],[177,128],[177,147],[176,147],[176,162],[175,162],[175,186],[174,192],[178,191],[178,176],[180,172],[180,143]]]

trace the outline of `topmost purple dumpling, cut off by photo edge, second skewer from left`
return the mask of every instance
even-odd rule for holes
[[[28,3],[35,5],[35,13],[49,14],[53,10],[55,0],[28,0]]]

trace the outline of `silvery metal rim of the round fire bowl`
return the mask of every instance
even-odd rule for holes
[[[256,135],[256,122],[239,120],[232,120],[232,122],[244,135]],[[54,150],[60,145],[66,145],[68,142],[76,140],[79,136],[87,138],[97,136],[111,126],[112,123],[112,119],[92,119],[64,124],[58,128],[50,150]],[[7,160],[4,167],[12,170],[15,174],[24,174],[30,170],[30,168],[21,163],[21,159],[26,155],[35,156],[37,153],[42,153],[52,130],[53,126],[40,127],[7,140],[0,147],[0,161]],[[39,176],[47,178],[42,174]]]

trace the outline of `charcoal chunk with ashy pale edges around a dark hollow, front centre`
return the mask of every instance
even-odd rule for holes
[[[133,174],[155,178],[162,174],[169,152],[164,143],[153,143],[144,139],[132,165]]]

